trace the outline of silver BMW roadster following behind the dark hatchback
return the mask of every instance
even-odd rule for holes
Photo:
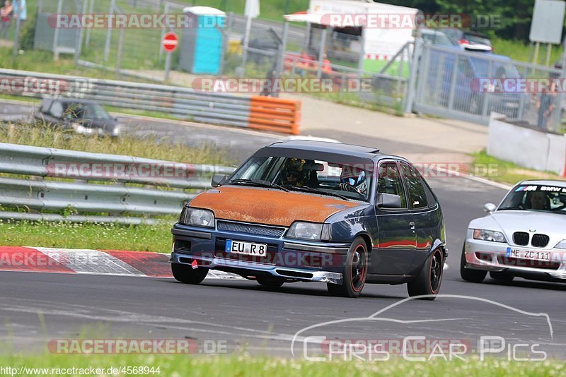
[[[482,282],[514,277],[566,282],[566,181],[522,181],[472,220],[460,274]]]

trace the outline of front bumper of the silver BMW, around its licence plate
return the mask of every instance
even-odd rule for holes
[[[507,256],[508,248],[545,251],[550,253],[550,261],[511,258]],[[472,270],[506,271],[530,279],[566,280],[566,250],[563,249],[537,249],[468,238],[464,255],[464,267]]]

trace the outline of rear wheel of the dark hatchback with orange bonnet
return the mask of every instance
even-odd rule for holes
[[[410,297],[424,296],[422,300],[434,300],[442,284],[444,271],[444,253],[442,249],[434,250],[420,269],[419,275],[407,283],[407,292]]]

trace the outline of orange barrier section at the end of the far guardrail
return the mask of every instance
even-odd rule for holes
[[[299,135],[301,101],[253,95],[248,128]]]

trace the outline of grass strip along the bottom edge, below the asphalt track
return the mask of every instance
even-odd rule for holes
[[[3,355],[0,365],[19,368],[93,368],[110,366],[148,366],[160,373],[139,376],[563,376],[565,365],[559,361],[516,362],[489,359],[480,361],[409,362],[390,361],[332,361],[313,362],[299,359],[267,357],[192,357],[187,355]],[[105,371],[106,372],[106,371]],[[29,373],[28,376],[39,376]],[[77,373],[78,375],[78,373]],[[108,374],[106,374],[108,376]],[[133,376],[134,374],[130,374]],[[121,374],[124,376],[124,374]]]

